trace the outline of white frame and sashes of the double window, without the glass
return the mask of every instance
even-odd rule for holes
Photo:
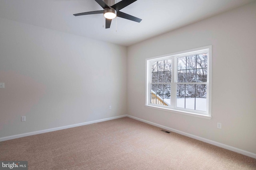
[[[206,111],[198,111],[192,109],[184,109],[180,107],[176,107],[176,84],[198,84],[193,82],[177,82],[177,58],[178,57],[186,57],[190,55],[202,54],[207,53],[207,82],[202,83],[206,84]],[[151,63],[154,61],[161,61],[166,59],[172,59],[172,82],[168,83],[171,84],[171,106],[164,106],[158,104],[150,103],[150,80],[151,80]],[[165,84],[165,83],[161,83]],[[200,47],[196,49],[190,49],[186,51],[181,51],[177,53],[161,55],[156,57],[151,57],[146,59],[146,107],[160,109],[164,111],[170,111],[173,113],[180,113],[184,115],[190,115],[194,117],[201,117],[205,119],[211,119],[211,96],[212,96],[212,45],[206,47]]]

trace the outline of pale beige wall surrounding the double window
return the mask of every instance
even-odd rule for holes
[[[212,119],[144,106],[146,58],[207,45],[212,45]],[[255,54],[255,2],[132,45],[128,115],[256,153]]]

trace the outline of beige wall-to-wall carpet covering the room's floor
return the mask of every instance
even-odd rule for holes
[[[29,170],[256,170],[256,159],[124,117],[0,142]]]

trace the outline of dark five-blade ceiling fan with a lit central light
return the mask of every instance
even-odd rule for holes
[[[91,12],[82,12],[79,14],[74,14],[74,16],[83,16],[83,15],[90,15],[90,14],[104,14],[104,17],[106,18],[106,28],[110,28],[110,24],[112,19],[118,17],[135,21],[135,22],[140,22],[142,19],[131,16],[129,14],[126,14],[124,12],[121,12],[119,10],[123,9],[124,7],[132,4],[136,0],[122,0],[116,4],[115,0],[95,0],[104,10],[100,11],[91,11]]]

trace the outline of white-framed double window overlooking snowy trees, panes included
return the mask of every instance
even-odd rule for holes
[[[146,106],[210,118],[211,50],[146,59]]]

